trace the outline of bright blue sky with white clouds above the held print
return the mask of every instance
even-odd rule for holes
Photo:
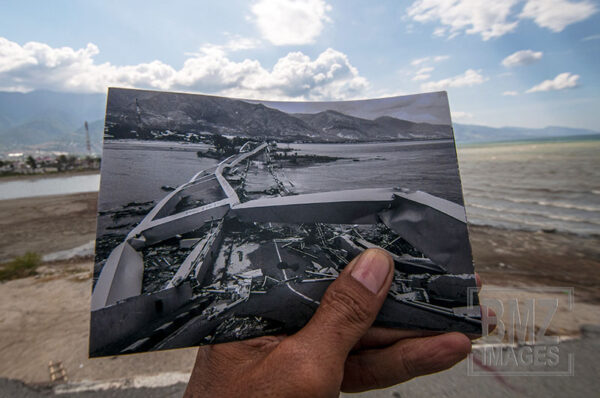
[[[592,0],[0,1],[0,90],[269,100],[447,90],[453,120],[600,130]]]

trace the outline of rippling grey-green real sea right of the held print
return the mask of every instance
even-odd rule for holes
[[[471,224],[600,236],[600,140],[458,150]]]

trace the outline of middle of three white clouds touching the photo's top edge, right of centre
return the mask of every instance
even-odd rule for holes
[[[518,22],[509,20],[512,7],[520,0],[417,0],[407,9],[418,22],[439,22],[436,36],[454,37],[461,32],[480,34],[483,40],[513,31]]]

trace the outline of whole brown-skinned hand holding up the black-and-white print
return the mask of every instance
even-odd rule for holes
[[[471,351],[461,333],[372,327],[393,278],[393,260],[370,249],[325,292],[291,336],[201,347],[185,397],[338,397],[448,369]]]

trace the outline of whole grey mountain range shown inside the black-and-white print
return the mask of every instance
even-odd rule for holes
[[[413,123],[392,117],[368,120],[332,110],[289,114],[262,104],[229,98],[122,89],[111,92],[106,122],[108,133],[117,139],[150,139],[166,130],[176,134],[209,132],[312,142],[452,136],[450,126]]]

